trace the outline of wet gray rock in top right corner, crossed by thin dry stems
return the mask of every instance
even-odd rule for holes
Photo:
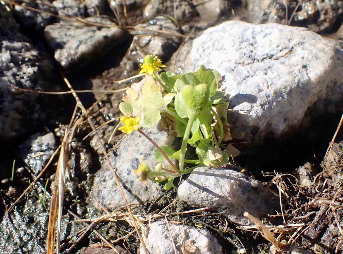
[[[288,19],[300,0],[288,1]],[[248,21],[255,24],[286,22],[286,6],[282,0],[248,0]],[[304,26],[317,33],[332,31],[343,12],[343,1],[302,1],[294,12],[291,25]]]

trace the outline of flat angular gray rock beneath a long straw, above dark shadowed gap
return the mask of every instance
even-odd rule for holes
[[[115,25],[105,17],[86,18],[90,22]],[[121,42],[125,33],[117,27],[86,26],[80,23],[53,24],[45,28],[45,38],[64,69],[79,66],[103,55]]]

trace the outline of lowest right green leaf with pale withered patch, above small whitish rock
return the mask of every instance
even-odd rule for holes
[[[229,155],[227,153],[223,152],[220,148],[214,148],[207,139],[201,140],[196,152],[199,161],[208,167],[225,166],[229,160]]]

